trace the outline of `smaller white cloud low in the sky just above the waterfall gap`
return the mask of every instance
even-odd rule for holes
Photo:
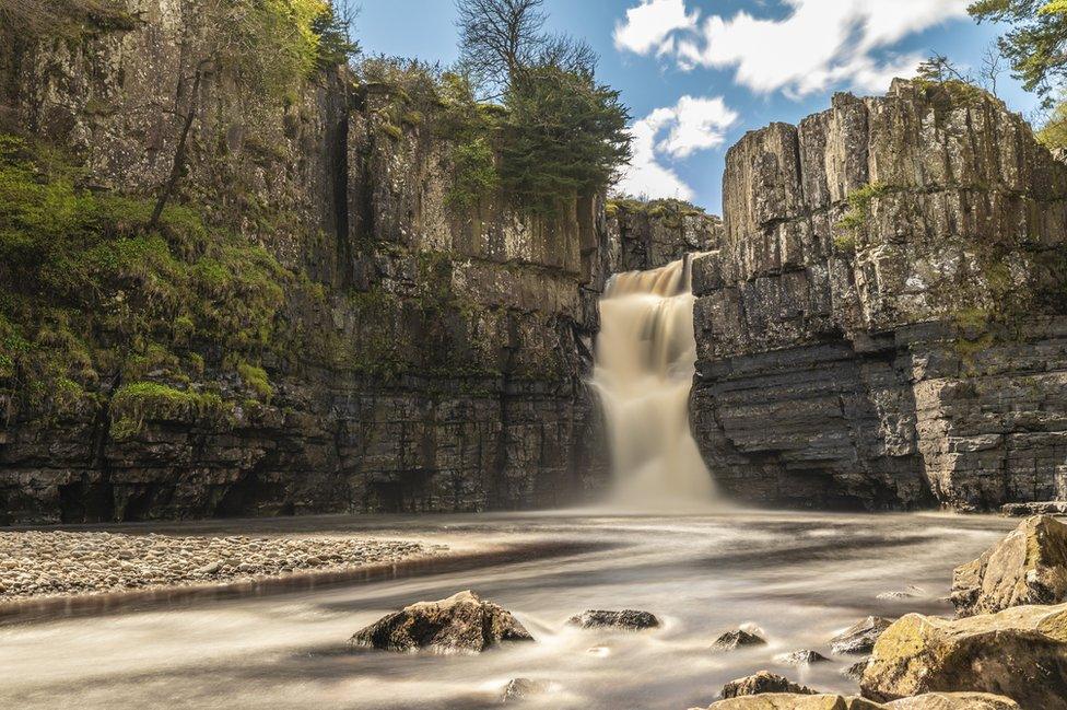
[[[738,118],[718,96],[682,96],[677,105],[652,112],[631,128],[633,160],[619,183],[619,190],[641,197],[691,201],[693,189],[677,172],[664,165],[664,161],[720,146]]]

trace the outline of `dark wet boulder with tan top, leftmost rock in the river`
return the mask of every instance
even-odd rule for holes
[[[386,651],[480,653],[502,641],[532,640],[511,612],[467,591],[384,616],[356,631],[349,644]]]

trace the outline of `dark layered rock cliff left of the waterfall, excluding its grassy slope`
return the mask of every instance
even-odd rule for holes
[[[15,42],[5,123],[78,156],[98,189],[154,195],[191,102],[195,0],[134,0],[132,30]],[[581,499],[602,478],[584,384],[602,201],[553,218],[446,202],[448,144],[388,85],[328,72],[271,104],[206,78],[180,190],[295,276],[254,401],[228,353],[150,383],[218,392],[223,420],[152,406],[114,435],[119,369],[56,416],[0,381],[0,523],[473,511]],[[263,399],[260,397],[260,399]]]

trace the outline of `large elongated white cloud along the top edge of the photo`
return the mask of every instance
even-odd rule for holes
[[[687,13],[681,0],[642,0],[615,28],[615,44],[641,55],[671,56],[683,69],[732,68],[737,82],[758,93],[781,90],[800,96],[842,84],[878,91],[893,75],[911,75],[922,56],[878,57],[876,53],[916,32],[966,16],[970,0],[781,2],[789,11],[783,19],[741,11],[699,22],[699,11]],[[671,9],[653,28],[643,13],[655,4]]]

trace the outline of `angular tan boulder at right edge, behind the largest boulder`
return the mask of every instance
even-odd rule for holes
[[[982,556],[955,568],[957,616],[995,614],[1027,604],[1067,602],[1067,525],[1028,517]]]

